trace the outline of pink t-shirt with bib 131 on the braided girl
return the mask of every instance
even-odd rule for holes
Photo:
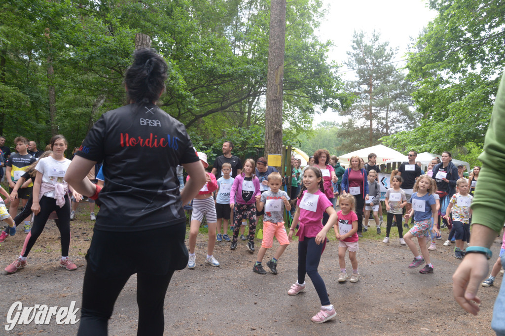
[[[300,224],[298,226],[299,241],[304,241],[304,237],[312,238],[323,229],[323,213],[326,208],[333,206],[328,197],[318,189],[314,194],[307,195],[307,190],[301,199],[298,199],[296,205],[300,208],[300,215],[298,217]],[[317,198],[317,200],[316,200]],[[303,203],[303,204],[302,204]]]

